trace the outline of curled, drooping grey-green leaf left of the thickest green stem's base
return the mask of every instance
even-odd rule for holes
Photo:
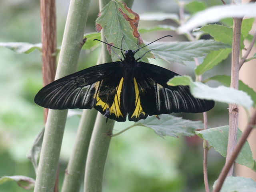
[[[43,138],[44,138],[44,128],[38,133],[38,135],[36,136],[36,139],[34,140],[31,150],[29,150],[26,155],[28,160],[32,162],[32,165],[34,166],[36,174],[38,170],[38,157],[42,149]]]

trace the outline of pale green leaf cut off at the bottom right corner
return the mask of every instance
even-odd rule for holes
[[[216,185],[214,182],[213,188]],[[229,176],[225,179],[220,192],[255,192],[256,182],[251,178]]]

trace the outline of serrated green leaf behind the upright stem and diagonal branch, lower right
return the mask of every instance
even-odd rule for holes
[[[207,130],[196,131],[196,134],[208,141],[208,143],[222,156],[226,157],[227,148],[228,148],[228,127],[221,126],[216,128],[210,128]],[[237,130],[237,141],[242,135],[240,129]],[[250,149],[248,141],[242,147],[242,150],[239,152],[236,163],[240,165],[247,166],[248,168],[253,168],[254,160],[252,158],[252,151]]]

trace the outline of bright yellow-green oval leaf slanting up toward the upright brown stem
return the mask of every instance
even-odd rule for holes
[[[218,65],[222,60],[225,60],[231,53],[231,48],[221,49],[218,51],[213,51],[204,58],[204,61],[196,67],[196,75],[201,75],[204,72],[211,70],[216,65]]]

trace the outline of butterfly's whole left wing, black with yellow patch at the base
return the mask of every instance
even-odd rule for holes
[[[120,102],[122,89],[121,62],[93,66],[60,78],[43,87],[35,103],[50,109],[91,109],[105,117],[125,121]]]

